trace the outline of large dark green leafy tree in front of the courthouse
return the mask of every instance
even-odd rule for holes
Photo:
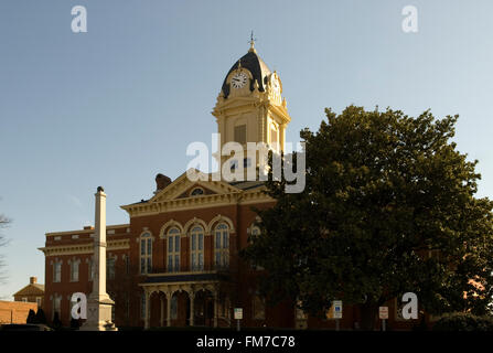
[[[269,179],[277,203],[258,211],[261,236],[242,253],[266,269],[259,285],[269,301],[299,300],[322,314],[341,299],[360,307],[364,329],[373,329],[379,306],[407,291],[430,313],[484,313],[493,203],[474,197],[478,161],[451,141],[458,116],[355,106],[325,113],[318,132],[300,133],[304,191],[288,194],[285,180]]]

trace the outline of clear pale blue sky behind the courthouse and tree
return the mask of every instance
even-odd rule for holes
[[[71,30],[77,4],[87,33]],[[401,31],[408,4],[418,33]],[[186,146],[216,131],[211,110],[250,30],[281,77],[288,141],[325,107],[459,114],[458,148],[491,197],[492,12],[489,0],[1,1],[0,213],[13,223],[0,297],[44,282],[44,234],[93,224],[98,185],[108,223],[126,223],[120,205],[185,170]]]

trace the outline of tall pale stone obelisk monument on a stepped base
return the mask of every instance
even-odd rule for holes
[[[117,331],[111,322],[115,302],[106,292],[106,194],[101,186],[96,193],[96,221],[94,237],[93,292],[87,299],[87,320],[82,331]]]

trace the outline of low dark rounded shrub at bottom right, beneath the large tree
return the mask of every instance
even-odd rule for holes
[[[433,331],[493,331],[493,317],[453,312],[438,320]]]

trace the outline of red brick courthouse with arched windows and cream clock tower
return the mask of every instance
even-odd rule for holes
[[[217,96],[213,115],[221,143],[265,142],[283,150],[291,118],[281,93],[278,74],[251,43]],[[250,160],[238,162],[248,167]],[[152,197],[121,206],[128,224],[107,226],[107,291],[117,327],[234,327],[233,308],[243,308],[243,327],[335,328],[334,320],[308,318],[291,302],[266,307],[255,282],[261,269],[240,261],[248,236],[259,235],[251,207],[274,202],[262,193],[262,182],[193,182],[186,173],[174,181],[158,174],[156,181]],[[46,233],[41,250],[49,319],[58,312],[67,325],[72,293],[90,293],[93,239],[93,227]],[[394,303],[389,307],[390,327],[410,324]],[[344,307],[343,314],[342,329],[360,320],[356,308]]]

